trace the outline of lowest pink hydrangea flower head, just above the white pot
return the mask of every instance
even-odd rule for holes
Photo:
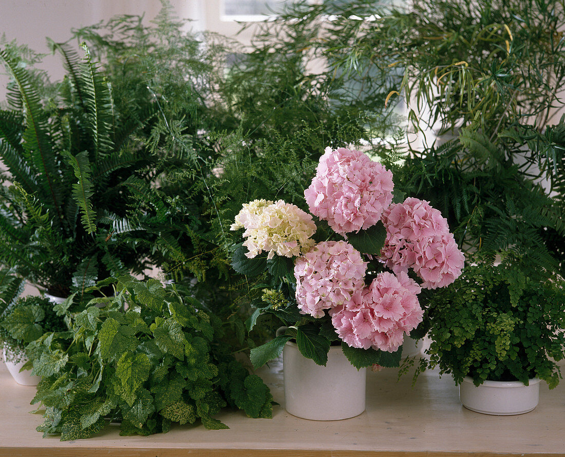
[[[351,347],[394,352],[402,345],[404,334],[422,321],[420,290],[406,273],[379,273],[361,293],[329,311],[332,324]]]

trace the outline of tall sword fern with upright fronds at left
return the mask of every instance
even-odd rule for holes
[[[36,86],[11,47],[0,50],[11,75],[0,111],[0,262],[65,297],[107,273],[145,267],[149,250],[128,237],[152,216],[144,204],[159,163],[133,136],[154,111],[120,114],[88,48],[82,60],[65,45],[54,49],[68,74],[45,100],[54,91]]]

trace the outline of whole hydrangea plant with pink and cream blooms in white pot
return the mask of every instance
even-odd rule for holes
[[[398,366],[405,334],[422,321],[421,289],[445,286],[461,273],[464,257],[446,219],[393,189],[392,172],[368,155],[328,147],[304,193],[310,214],[256,200],[235,217],[231,229],[244,228],[245,241],[234,247],[232,266],[248,276],[265,272],[269,281],[247,328],[262,314],[284,325],[251,350],[251,362],[257,368],[283,352],[291,414],[345,419],[363,412],[364,369]],[[290,374],[294,363],[297,376]],[[344,364],[345,380],[330,372],[323,381],[323,373],[344,372]],[[298,379],[313,389],[293,390]],[[357,400],[338,394],[344,382],[350,394],[358,391]],[[334,399],[332,411],[321,408],[327,398]]]

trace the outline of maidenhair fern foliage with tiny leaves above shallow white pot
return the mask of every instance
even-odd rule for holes
[[[477,386],[538,377],[554,388],[561,378],[556,362],[565,357],[564,285],[520,264],[467,266],[427,297],[432,343],[420,370],[438,366],[457,384],[465,376]]]

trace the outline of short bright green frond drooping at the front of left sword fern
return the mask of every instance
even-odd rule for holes
[[[92,207],[91,201],[91,197],[94,194],[94,186],[90,181],[92,173],[88,161],[88,152],[82,151],[73,156],[71,153],[65,151],[63,156],[67,158],[68,163],[75,171],[75,176],[78,179],[78,181],[72,185],[72,194],[76,204],[81,209],[82,225],[87,233],[94,233],[96,231],[96,212]]]

